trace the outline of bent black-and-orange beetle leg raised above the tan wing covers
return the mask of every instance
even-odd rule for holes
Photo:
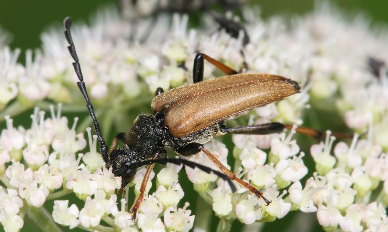
[[[204,67],[203,63],[204,63],[205,59],[227,75],[233,75],[233,74],[238,73],[237,71],[235,71],[235,70],[231,69],[230,67],[226,66],[225,64],[207,56],[204,53],[197,53],[195,55],[194,65],[193,65],[193,83],[203,81],[203,67]]]

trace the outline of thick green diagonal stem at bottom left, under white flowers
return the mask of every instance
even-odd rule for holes
[[[33,223],[40,231],[62,232],[61,227],[56,224],[51,214],[45,209],[30,209],[26,219]]]

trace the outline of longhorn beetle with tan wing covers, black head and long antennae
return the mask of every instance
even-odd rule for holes
[[[148,164],[140,194],[130,211],[133,218],[136,217],[137,210],[143,201],[146,183],[155,163],[170,162],[192,168],[198,167],[205,172],[214,172],[228,181],[232,191],[236,190],[231,182],[234,180],[258,198],[262,198],[267,205],[271,203],[261,191],[228,170],[210,151],[204,148],[203,144],[209,142],[214,136],[228,133],[271,134],[281,132],[285,128],[291,129],[292,125],[278,122],[228,128],[225,126],[225,120],[298,93],[300,87],[296,81],[263,73],[238,73],[221,62],[198,53],[194,59],[194,83],[167,92],[158,88],[151,103],[154,114],[137,116],[129,132],[117,134],[108,150],[83,81],[70,33],[70,17],[65,18],[64,26],[65,37],[69,43],[68,50],[74,59],[73,67],[79,79],[77,85],[92,117],[106,167],[112,168],[113,174],[122,178],[120,191],[123,191],[124,187],[132,181],[138,167]],[[228,76],[203,81],[205,59]],[[309,128],[298,127],[296,130],[316,138],[324,136],[321,132]],[[115,149],[117,140],[121,140],[125,146]],[[202,151],[223,174],[188,160],[167,158],[166,147],[182,156],[191,156]]]

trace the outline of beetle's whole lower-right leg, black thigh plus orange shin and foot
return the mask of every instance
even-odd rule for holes
[[[203,151],[207,157],[226,175],[229,179],[236,181],[244,188],[248,189],[251,193],[255,194],[258,198],[263,198],[266,205],[269,205],[271,203],[270,200],[265,198],[263,196],[263,193],[255,188],[254,186],[250,185],[249,183],[245,182],[244,180],[238,178],[236,174],[234,174],[232,171],[230,171],[228,168],[226,168],[209,150],[203,147],[202,144],[199,143],[189,143],[185,147],[179,150],[179,154],[184,156],[190,156],[193,155],[199,151]]]

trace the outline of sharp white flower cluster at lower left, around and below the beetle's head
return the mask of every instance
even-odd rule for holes
[[[51,109],[51,118],[47,119],[43,111],[35,109],[30,129],[15,129],[12,119],[6,118],[8,128],[0,135],[1,181],[7,186],[7,189],[0,188],[0,222],[5,231],[20,230],[23,227],[20,215],[28,209],[41,208],[46,200],[71,192],[85,201],[83,208],[69,206],[68,200],[56,200],[52,213],[55,222],[70,228],[80,225],[103,229],[101,220],[124,231],[189,231],[193,227],[195,216],[190,215],[189,204],[178,207],[184,195],[178,183],[181,167],[168,165],[160,171],[157,191],[145,197],[135,225],[124,199],[121,211],[117,208],[115,191],[121,187],[121,177],[115,177],[104,167],[101,155],[96,152],[97,136],[93,136],[92,142],[91,129],[87,128],[90,152],[79,154],[76,159],[76,152],[86,145],[83,134],[75,132],[77,118],[68,128],[67,118],[61,117],[60,109],[57,113]],[[145,167],[135,175],[137,194],[144,174]],[[147,192],[154,175],[151,174]]]

